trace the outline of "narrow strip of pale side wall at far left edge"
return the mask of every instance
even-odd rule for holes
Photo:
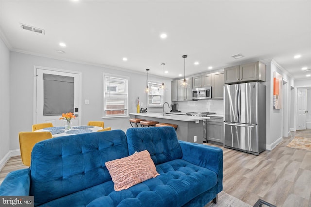
[[[10,51],[0,38],[0,170],[10,148]]]

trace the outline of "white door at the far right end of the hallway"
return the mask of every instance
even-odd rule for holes
[[[297,130],[306,129],[306,111],[307,111],[307,89],[298,88],[297,98]]]

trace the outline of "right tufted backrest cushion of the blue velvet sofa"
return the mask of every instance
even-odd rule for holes
[[[182,157],[173,127],[129,128],[126,136],[129,154],[148,150],[155,165]]]

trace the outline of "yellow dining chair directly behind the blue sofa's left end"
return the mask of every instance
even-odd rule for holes
[[[52,134],[49,131],[19,132],[19,147],[23,164],[30,166],[31,152],[35,144],[50,138],[52,138]]]

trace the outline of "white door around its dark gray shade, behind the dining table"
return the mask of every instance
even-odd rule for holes
[[[35,117],[34,117],[34,124],[36,123],[44,123],[44,122],[52,122],[52,124],[55,127],[64,126],[65,121],[60,120],[61,114],[58,115],[43,115],[44,111],[44,96],[49,96],[49,94],[44,94],[44,80],[43,80],[43,74],[52,74],[52,75],[58,75],[58,76],[65,76],[65,77],[73,77],[73,84],[74,89],[72,90],[73,95],[73,108],[70,111],[63,111],[63,113],[73,112],[76,115],[76,118],[72,120],[72,126],[81,125],[81,110],[80,110],[80,76],[81,74],[79,72],[63,72],[53,69],[47,69],[47,68],[35,68]],[[64,89],[65,90],[65,89]],[[62,93],[62,90],[58,91],[59,93]],[[62,100],[58,100],[59,103],[62,103]],[[57,106],[56,106],[57,107]]]

